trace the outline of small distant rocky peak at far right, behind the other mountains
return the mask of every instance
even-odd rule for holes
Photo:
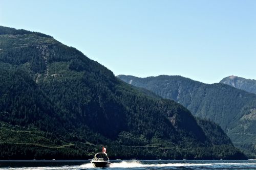
[[[220,83],[256,94],[256,80],[245,79],[237,76],[229,76],[222,79]]]

